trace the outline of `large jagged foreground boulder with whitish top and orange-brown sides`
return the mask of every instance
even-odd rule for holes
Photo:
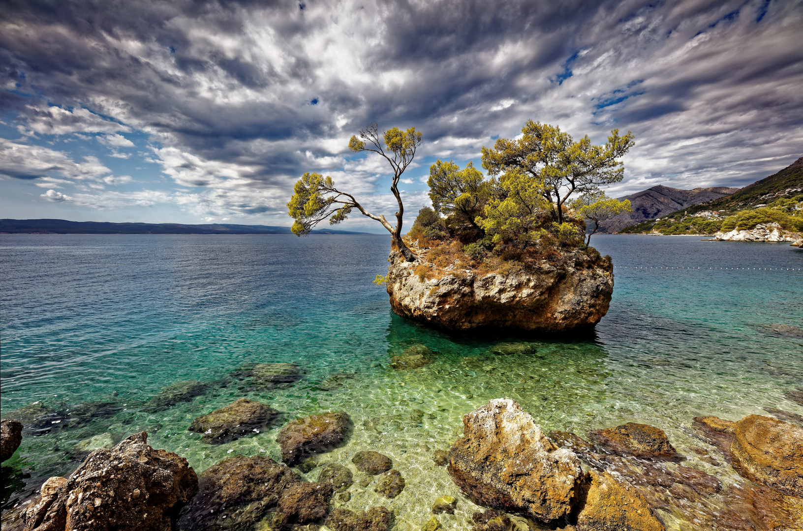
[[[463,426],[447,470],[475,504],[552,521],[577,503],[580,460],[552,444],[518,403],[493,399],[463,415]]]

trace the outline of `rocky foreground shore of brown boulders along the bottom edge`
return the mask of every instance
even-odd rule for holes
[[[242,400],[226,411],[264,414]],[[319,456],[349,444],[352,427],[344,411],[285,424],[278,437],[283,463],[233,456],[198,476],[181,456],[152,448],[141,432],[96,449],[70,476],[45,481],[35,497],[3,514],[3,529],[436,531],[455,509],[475,504],[479,510],[460,529],[792,531],[803,521],[803,426],[795,424],[803,418],[774,414],[789,422],[764,415],[696,417],[699,447],[691,450],[708,465],[699,468],[687,464],[689,457],[659,428],[627,423],[586,439],[544,433],[515,400],[492,399],[463,416],[463,436],[448,451],[431,449],[434,464],[446,465],[462,497],[434,496],[430,517],[417,529],[394,525],[403,519],[398,509],[344,506],[355,489],[372,483],[388,501],[407,492],[391,457],[361,451],[317,467]],[[18,444],[17,424],[3,421],[4,459],[5,449]],[[316,480],[305,480],[302,474],[316,467]],[[720,468],[742,480],[726,484],[709,473]]]

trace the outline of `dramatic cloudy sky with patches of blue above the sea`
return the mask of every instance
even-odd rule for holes
[[[374,122],[423,134],[406,228],[526,120],[632,131],[611,197],[741,187],[803,155],[801,35],[782,0],[3,0],[0,217],[287,226],[304,172],[391,217]]]

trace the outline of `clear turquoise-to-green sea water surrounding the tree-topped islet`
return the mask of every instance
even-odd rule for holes
[[[26,436],[6,466],[30,477],[15,472],[6,506],[26,485],[71,472],[74,445],[92,436],[146,430],[150,444],[201,472],[234,452],[278,460],[275,432],[286,420],[343,410],[353,436],[321,462],[350,464],[371,448],[392,456],[407,480],[392,501],[373,484],[355,485],[346,506],[397,508],[397,529],[414,529],[434,497],[459,496],[432,452],[462,434],[463,414],[501,396],[546,431],[652,424],[693,466],[736,480],[684,452],[699,445],[691,418],[736,420],[764,407],[803,414],[785,398],[803,385],[803,250],[699,237],[595,235],[593,245],[616,266],[613,301],[594,334],[478,338],[389,311],[385,290],[371,284],[386,271],[384,236],[0,235],[3,418],[37,401],[60,411],[105,403],[79,427]],[[536,353],[495,355],[499,343]],[[434,362],[389,367],[390,355],[415,344],[436,351]],[[267,391],[215,387],[251,362],[296,363],[304,379]],[[212,384],[192,401],[144,411],[184,380]],[[202,444],[186,431],[243,395],[285,415],[229,444]],[[474,509],[461,501],[442,523],[463,529]]]

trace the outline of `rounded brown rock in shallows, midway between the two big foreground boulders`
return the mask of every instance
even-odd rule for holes
[[[336,448],[348,432],[349,415],[336,411],[291,420],[279,430],[276,442],[282,448],[282,460],[293,465],[312,454]]]

